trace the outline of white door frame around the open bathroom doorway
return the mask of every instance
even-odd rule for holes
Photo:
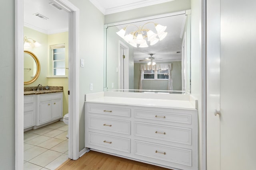
[[[68,0],[52,0],[69,12],[69,126],[68,157],[79,158],[79,9]],[[24,164],[24,0],[15,0],[15,169]],[[72,57],[71,57],[72,56]]]

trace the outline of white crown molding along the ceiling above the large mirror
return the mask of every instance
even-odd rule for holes
[[[117,12],[124,12],[124,11],[128,11],[128,10],[133,10],[136,8],[142,8],[142,7],[146,7],[146,6],[152,6],[152,5],[156,5],[156,4],[162,4],[165,2],[170,2],[170,1],[174,1],[174,0],[142,0],[140,2],[135,2],[132,4],[126,4],[126,5],[122,5],[122,6],[116,6],[113,8],[107,8],[105,9],[104,7],[102,7],[99,2],[97,0],[90,0],[90,2],[92,4],[94,4],[94,6],[96,6],[96,8],[98,8],[98,10],[100,10],[100,12],[102,12],[102,14],[104,15],[108,15],[108,14],[114,14]]]

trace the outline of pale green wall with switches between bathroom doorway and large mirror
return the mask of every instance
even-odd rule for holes
[[[79,149],[84,148],[84,95],[103,91],[104,15],[89,0],[69,0],[80,9],[79,55]],[[95,70],[97,69],[97,70]],[[90,83],[93,90],[90,91]]]

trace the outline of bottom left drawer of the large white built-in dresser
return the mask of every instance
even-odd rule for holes
[[[130,139],[89,132],[89,144],[130,153]],[[87,147],[87,146],[86,146]]]

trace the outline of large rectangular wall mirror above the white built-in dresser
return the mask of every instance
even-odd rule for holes
[[[104,90],[190,93],[190,20],[186,10],[105,25]],[[116,33],[126,28],[129,35],[144,24],[157,33],[155,23],[166,26],[167,35],[154,45],[143,35],[148,47],[131,45]]]

